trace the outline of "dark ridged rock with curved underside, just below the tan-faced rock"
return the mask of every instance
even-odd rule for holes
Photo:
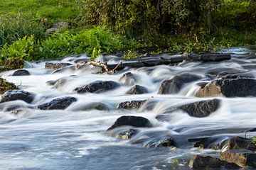
[[[196,118],[203,118],[210,115],[210,113],[217,111],[219,106],[220,100],[213,99],[188,103],[186,105],[180,106],[179,108],[181,108],[183,111],[186,111],[188,115]]]

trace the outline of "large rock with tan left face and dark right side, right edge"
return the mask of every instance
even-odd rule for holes
[[[196,96],[256,96],[256,79],[218,79],[199,89]]]

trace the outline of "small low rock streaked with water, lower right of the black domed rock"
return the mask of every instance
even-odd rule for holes
[[[174,146],[174,139],[172,137],[154,139],[145,145],[145,147],[171,147],[171,146]]]

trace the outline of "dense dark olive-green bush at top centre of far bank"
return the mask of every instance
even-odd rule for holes
[[[212,27],[211,13],[222,0],[81,0],[85,25],[106,25],[129,37],[180,34]],[[99,10],[100,9],[100,10]]]

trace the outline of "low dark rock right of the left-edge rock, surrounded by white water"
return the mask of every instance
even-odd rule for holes
[[[55,98],[53,101],[39,105],[38,108],[41,110],[64,110],[75,101],[77,99],[74,97]]]

